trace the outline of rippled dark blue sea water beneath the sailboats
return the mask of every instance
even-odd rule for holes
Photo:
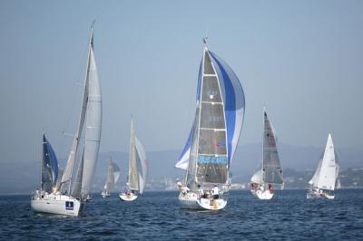
[[[36,215],[29,196],[3,196],[0,239],[363,240],[363,189],[338,190],[332,201],[305,194],[284,190],[261,201],[233,191],[217,212],[183,210],[176,192],[147,192],[133,203],[94,195],[81,217]]]

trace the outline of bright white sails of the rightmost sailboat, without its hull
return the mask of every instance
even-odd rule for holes
[[[324,156],[319,161],[319,166],[316,171],[317,177],[314,174],[314,177],[311,179],[313,187],[334,190],[338,177],[338,169],[339,166],[338,161],[336,161],[333,140],[329,134]]]

